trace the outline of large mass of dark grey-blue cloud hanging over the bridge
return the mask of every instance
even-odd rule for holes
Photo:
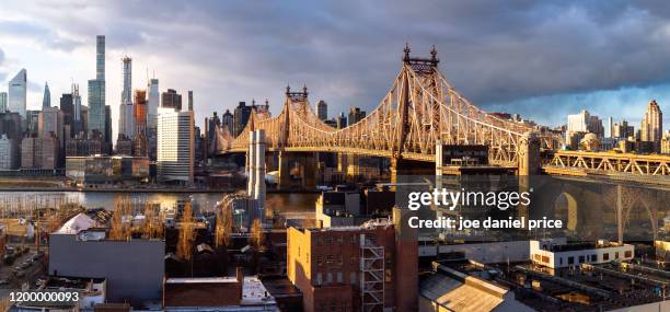
[[[279,102],[286,83],[307,83],[313,102],[332,105],[331,115],[349,106],[371,109],[400,69],[405,42],[423,56],[435,44],[453,85],[490,107],[670,79],[670,7],[663,1],[92,3],[33,9],[48,14],[51,31],[39,24],[12,30],[55,48],[59,41],[90,45],[106,34],[109,49],[159,57],[175,71],[195,69],[173,81],[188,81],[207,112],[252,96]],[[57,39],[48,39],[53,35]]]

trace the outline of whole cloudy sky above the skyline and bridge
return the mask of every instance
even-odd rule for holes
[[[331,116],[377,106],[405,42],[473,103],[545,125],[587,108],[636,128],[656,99],[670,122],[670,7],[663,1],[5,1],[0,0],[0,91],[21,68],[28,109],[72,81],[86,99],[95,35],[106,36],[107,104],[117,125],[120,58],[134,88],[147,72],[194,91],[197,124],[287,84],[310,89]],[[668,128],[668,127],[666,127]]]

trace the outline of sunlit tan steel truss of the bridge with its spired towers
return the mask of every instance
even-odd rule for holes
[[[320,120],[312,111],[308,90],[287,86],[281,113],[275,117],[252,113],[244,130],[233,138],[217,131],[216,153],[243,152],[250,131],[264,129],[269,151],[327,151],[435,162],[436,143],[485,145],[494,164],[516,166],[519,143],[533,129],[501,119],[474,106],[438,70],[435,47],[429,58],[414,58],[405,47],[403,63],[391,89],[374,111],[343,129]],[[534,134],[543,148],[554,149],[562,139]]]

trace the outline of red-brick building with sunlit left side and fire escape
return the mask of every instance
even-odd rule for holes
[[[416,242],[397,240],[394,228],[385,219],[360,227],[290,228],[287,273],[302,291],[303,310],[416,310]]]

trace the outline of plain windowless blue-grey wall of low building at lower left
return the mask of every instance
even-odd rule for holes
[[[111,301],[160,299],[164,274],[162,241],[78,241],[49,236],[49,274],[107,279]]]

